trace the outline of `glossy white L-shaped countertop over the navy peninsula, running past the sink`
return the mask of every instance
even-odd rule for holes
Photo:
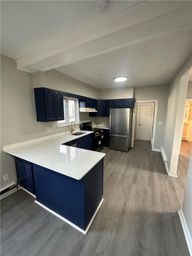
[[[15,143],[3,146],[3,151],[80,180],[105,156],[104,153],[61,145],[92,133],[90,131],[81,132],[85,134],[74,136],[60,133]]]

